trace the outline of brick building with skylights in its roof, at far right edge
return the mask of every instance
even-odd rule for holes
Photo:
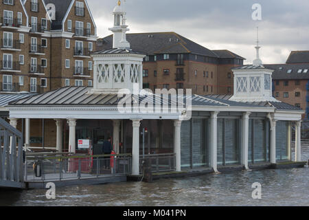
[[[264,65],[273,72],[273,96],[306,110],[304,120],[309,118],[309,51],[293,51],[286,63]]]

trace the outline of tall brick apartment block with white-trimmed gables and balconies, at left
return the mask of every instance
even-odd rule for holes
[[[92,85],[96,27],[86,0],[0,3],[0,90],[42,93]]]

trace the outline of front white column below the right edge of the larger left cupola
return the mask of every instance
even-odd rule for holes
[[[132,120],[133,146],[132,146],[132,175],[139,175],[139,126],[141,120]]]

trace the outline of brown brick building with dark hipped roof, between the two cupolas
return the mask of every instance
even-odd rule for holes
[[[192,89],[194,94],[233,94],[232,67],[244,58],[228,50],[209,50],[175,32],[127,34],[132,50],[146,54],[144,88]],[[113,36],[97,49],[113,47]]]

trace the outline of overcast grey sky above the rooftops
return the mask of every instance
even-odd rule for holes
[[[88,0],[98,36],[111,34],[117,0]],[[262,21],[253,21],[253,3]],[[263,63],[285,63],[291,50],[309,50],[308,0],[126,0],[129,33],[176,32],[210,50],[231,50],[252,63],[256,27]]]

